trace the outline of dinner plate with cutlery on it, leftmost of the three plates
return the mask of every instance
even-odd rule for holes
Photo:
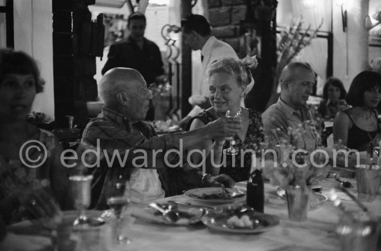
[[[165,221],[162,217],[162,214],[152,207],[145,207],[143,209],[134,210],[134,212],[132,212],[132,216],[134,216],[136,219],[147,221],[148,223],[184,226],[200,222],[201,217],[206,214],[206,210],[203,208],[188,207],[186,205],[173,205],[167,203],[158,203],[158,205],[163,207],[164,210],[168,208],[171,210],[177,210],[177,212],[179,212],[180,219],[175,223]]]

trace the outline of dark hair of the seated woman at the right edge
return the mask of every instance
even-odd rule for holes
[[[374,71],[362,71],[352,81],[346,95],[346,102],[351,106],[364,105],[364,93],[374,86],[381,89],[381,75]]]

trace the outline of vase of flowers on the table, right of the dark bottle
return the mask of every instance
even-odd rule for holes
[[[310,186],[325,178],[327,168],[324,156],[314,153],[319,147],[319,127],[315,121],[305,121],[299,127],[289,128],[288,140],[275,145],[277,158],[266,158],[263,173],[272,185],[285,191],[291,221],[305,221],[312,203],[318,198]]]

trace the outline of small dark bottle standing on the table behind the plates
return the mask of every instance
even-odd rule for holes
[[[265,206],[265,189],[263,187],[262,171],[254,170],[247,181],[246,204],[256,212],[263,213]]]

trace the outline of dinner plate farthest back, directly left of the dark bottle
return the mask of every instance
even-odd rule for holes
[[[190,189],[184,193],[187,198],[202,203],[234,203],[246,198],[246,193],[236,188],[226,188],[227,197],[224,197],[222,187],[203,187]]]

